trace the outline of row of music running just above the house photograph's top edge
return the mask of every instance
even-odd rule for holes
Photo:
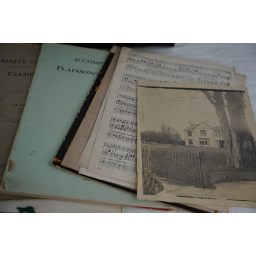
[[[185,75],[172,75],[168,80],[158,80],[158,79],[150,79],[141,76],[134,76],[130,74],[123,74],[122,78],[123,82],[131,83],[137,86],[137,81],[142,82],[189,82],[189,83],[200,83],[200,84],[218,84],[220,86],[230,86],[229,82],[220,82],[216,80],[203,79],[203,78],[193,78]]]

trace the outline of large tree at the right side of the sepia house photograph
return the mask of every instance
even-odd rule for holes
[[[219,117],[226,153],[231,159],[229,164],[241,167],[243,157],[254,157],[256,153],[255,140],[246,120],[244,94],[216,91],[204,94]]]

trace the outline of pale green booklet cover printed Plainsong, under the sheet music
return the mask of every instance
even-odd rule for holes
[[[50,164],[109,53],[43,44],[2,190],[41,198],[169,208]]]

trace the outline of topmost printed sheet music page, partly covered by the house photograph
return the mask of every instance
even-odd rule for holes
[[[88,172],[137,183],[138,80],[237,85],[234,68],[122,48]]]

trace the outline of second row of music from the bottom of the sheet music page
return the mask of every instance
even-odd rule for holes
[[[123,152],[125,152],[125,155],[123,155]],[[134,150],[133,148],[119,146],[111,143],[105,143],[102,155],[114,157],[122,161],[137,162],[136,152],[137,150]]]

